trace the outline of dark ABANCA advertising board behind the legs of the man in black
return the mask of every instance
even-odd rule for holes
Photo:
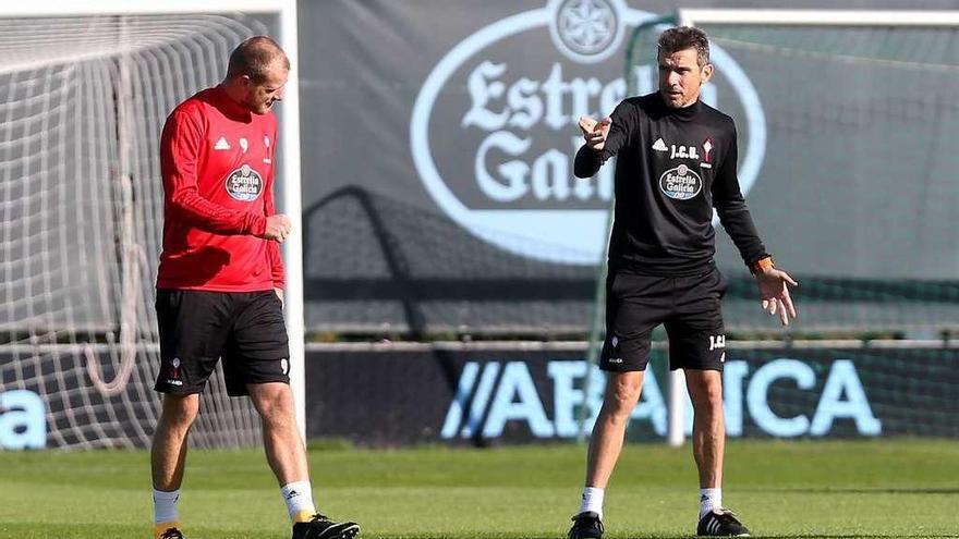
[[[307,436],[360,444],[521,443],[588,430],[605,376],[582,344],[314,348],[306,362]],[[655,352],[628,430],[667,433],[666,354]],[[959,437],[959,352],[730,347],[725,362],[731,438]],[[588,377],[588,379],[587,379]],[[687,400],[685,431],[692,432]]]

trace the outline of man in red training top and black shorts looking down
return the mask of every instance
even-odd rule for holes
[[[227,392],[248,395],[263,421],[293,539],[349,539],[313,504],[306,452],[290,389],[279,244],[290,219],[274,204],[277,119],[290,61],[276,41],[252,37],[230,56],[227,77],[177,107],[163,126],[163,252],[157,275],[165,393],[151,466],[155,537],[182,539],[177,500],[199,393],[222,358]]]

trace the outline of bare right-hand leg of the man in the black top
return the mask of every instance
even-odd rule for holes
[[[685,370],[693,402],[693,456],[701,489],[723,487],[726,422],[723,415],[723,376],[718,370]]]

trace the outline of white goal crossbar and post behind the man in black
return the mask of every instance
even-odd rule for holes
[[[753,25],[831,28],[848,26],[857,29],[867,27],[956,28],[959,27],[959,10],[678,9],[675,21],[678,26],[708,25],[712,27],[718,25]],[[840,54],[842,51],[837,50],[835,53]],[[938,65],[936,68],[942,66]],[[669,381],[670,396],[667,441],[673,446],[683,443],[684,431],[689,429],[690,420],[685,417],[684,411],[691,409],[691,406],[688,403],[688,396],[684,396],[685,391],[682,371],[672,371]]]

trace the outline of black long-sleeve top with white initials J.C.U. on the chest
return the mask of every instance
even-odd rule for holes
[[[713,208],[746,265],[767,256],[737,176],[736,125],[696,101],[670,109],[658,93],[623,100],[600,151],[583,145],[574,173],[612,156],[616,207],[610,267],[652,275],[706,270],[716,253]]]

